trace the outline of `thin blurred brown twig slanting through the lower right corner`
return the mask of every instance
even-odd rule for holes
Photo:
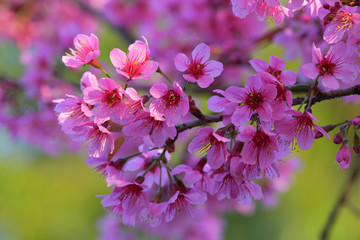
[[[346,203],[347,199],[350,196],[351,190],[355,184],[355,181],[360,173],[360,163],[358,162],[359,159],[356,159],[356,166],[345,186],[345,188],[343,189],[342,193],[339,196],[338,201],[336,202],[335,206],[333,207],[330,216],[323,228],[323,231],[321,233],[320,239],[321,240],[326,240],[329,236],[330,230],[334,224],[334,221],[340,211],[340,208]]]

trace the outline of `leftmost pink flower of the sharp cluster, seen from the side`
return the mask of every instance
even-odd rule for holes
[[[81,98],[72,95],[67,96],[68,98],[58,103],[54,110],[59,113],[58,120],[61,130],[66,134],[72,134],[74,133],[73,127],[88,122],[93,112]]]

